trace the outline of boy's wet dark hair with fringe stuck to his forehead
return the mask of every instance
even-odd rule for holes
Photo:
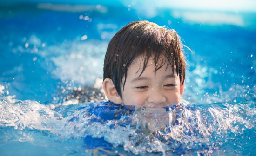
[[[112,79],[120,97],[128,68],[139,56],[143,60],[141,74],[147,67],[148,59],[152,57],[155,72],[167,62],[172,67],[172,74],[176,70],[181,83],[184,83],[186,62],[178,33],[146,20],[131,22],[110,40],[104,60],[103,80]]]

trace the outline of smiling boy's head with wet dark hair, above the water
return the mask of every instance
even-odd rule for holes
[[[103,88],[115,104],[166,107],[179,104],[185,58],[175,30],[148,21],[131,22],[111,39]]]

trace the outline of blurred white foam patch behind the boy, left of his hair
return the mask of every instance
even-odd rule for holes
[[[96,78],[101,78],[107,42],[98,40],[83,42],[81,39],[74,39],[56,45],[47,45],[35,35],[23,42],[25,47],[18,46],[14,51],[28,52],[45,58],[47,65],[42,67],[62,82],[73,80],[77,84],[88,85],[93,84]],[[37,58],[33,61],[36,60]]]

